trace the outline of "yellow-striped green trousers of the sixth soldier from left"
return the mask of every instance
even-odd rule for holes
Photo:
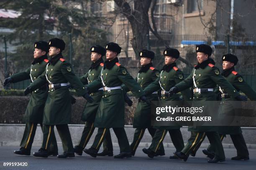
[[[184,141],[183,141],[180,129],[172,129],[172,130],[157,129],[149,149],[151,149],[156,153],[156,151],[159,149],[159,146],[163,144],[163,140],[167,132],[169,132],[171,136],[172,143],[176,148],[176,151],[180,152],[184,148]]]

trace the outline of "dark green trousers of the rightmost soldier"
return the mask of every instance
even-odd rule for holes
[[[220,139],[224,138],[224,135],[220,135]],[[238,133],[238,134],[234,134],[234,135],[230,135],[230,138],[236,148],[236,153],[237,156],[239,157],[249,157],[249,152],[248,152],[248,148],[246,146],[246,142],[243,138],[243,134],[242,133]],[[207,150],[209,150],[210,152],[213,152],[213,147],[212,145],[209,145]]]

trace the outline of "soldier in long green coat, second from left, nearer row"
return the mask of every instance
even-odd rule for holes
[[[43,143],[38,152],[33,153],[33,155],[43,158],[48,157],[47,150],[49,150],[54,125],[56,125],[64,150],[63,155],[58,155],[57,158],[74,157],[73,144],[68,127],[68,123],[71,120],[71,95],[67,82],[70,82],[79,96],[83,96],[89,102],[93,100],[86,92],[79,78],[74,75],[71,64],[63,59],[61,52],[65,49],[65,42],[61,39],[53,38],[49,40],[49,47],[51,59],[46,65],[45,71],[24,91],[24,94],[27,95],[46,82],[49,84],[49,93],[44,107]]]

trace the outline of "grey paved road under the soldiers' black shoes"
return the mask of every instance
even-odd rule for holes
[[[59,147],[61,148],[61,147]],[[249,161],[234,161],[230,158],[236,155],[235,149],[225,149],[226,161],[224,163],[209,164],[207,158],[200,150],[195,158],[189,157],[187,162],[182,160],[170,160],[169,155],[174,148],[165,148],[165,156],[148,158],[138,148],[136,157],[128,159],[114,159],[113,157],[92,158],[83,153],[75,158],[58,159],[56,157],[36,158],[33,156],[21,156],[13,154],[17,147],[0,147],[0,170],[255,170],[256,149],[250,149]],[[36,151],[38,147],[33,147]],[[62,152],[62,151],[61,151]],[[60,152],[59,152],[60,153]],[[119,153],[119,148],[114,148],[114,153]],[[4,162],[24,162],[28,166],[4,167]]]

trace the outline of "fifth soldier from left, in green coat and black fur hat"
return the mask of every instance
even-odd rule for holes
[[[141,86],[142,89],[145,89],[151,82],[154,82],[159,77],[159,71],[153,67],[152,60],[154,59],[155,53],[150,50],[142,50],[139,52],[141,57],[141,69],[138,71],[138,75],[135,80]],[[123,86],[125,91],[129,91],[127,87]],[[158,95],[157,91],[146,95],[149,101],[157,101]],[[136,149],[138,148],[139,143],[145,133],[145,130],[148,129],[150,135],[154,136],[156,129],[151,126],[151,105],[148,105],[146,102],[139,101],[134,113],[133,119],[133,128],[136,128],[134,132],[133,142],[130,147],[132,150],[132,155],[135,155]],[[156,152],[157,155],[164,155],[164,146],[163,143],[160,144],[159,150]]]

